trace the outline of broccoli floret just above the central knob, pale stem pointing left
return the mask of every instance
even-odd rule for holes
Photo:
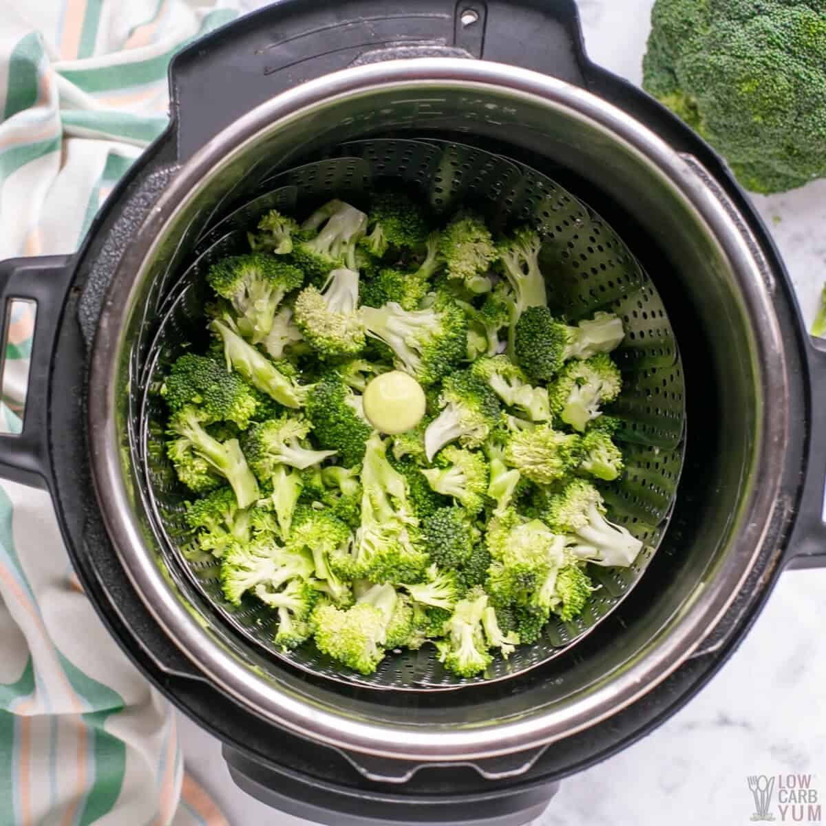
[[[468,323],[453,301],[439,298],[424,310],[406,311],[395,301],[363,307],[368,333],[392,349],[396,367],[423,385],[447,375],[463,358]]]

